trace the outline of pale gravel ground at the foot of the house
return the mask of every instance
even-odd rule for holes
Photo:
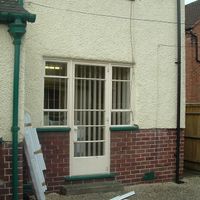
[[[125,193],[135,191],[136,195],[129,200],[199,200],[200,175],[185,177],[183,184],[159,183],[142,184],[125,187]],[[48,194],[46,200],[109,200],[122,193],[93,193],[84,195],[61,196]]]

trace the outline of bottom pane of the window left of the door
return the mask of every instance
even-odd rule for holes
[[[67,112],[45,111],[44,125],[45,126],[67,125]]]

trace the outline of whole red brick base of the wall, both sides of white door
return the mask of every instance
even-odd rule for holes
[[[65,181],[69,175],[69,132],[39,132],[46,162],[45,178],[49,192],[59,192],[63,184],[88,181]],[[180,175],[183,175],[184,131],[181,132]],[[176,130],[141,129],[111,131],[110,171],[113,179],[125,184],[174,181],[176,168]],[[145,180],[146,173],[154,173]],[[27,180],[27,177],[24,177]],[[108,181],[110,179],[102,179]],[[93,182],[99,181],[92,180]]]

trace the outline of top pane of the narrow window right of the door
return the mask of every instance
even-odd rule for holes
[[[113,67],[112,68],[113,80],[130,80],[130,68],[128,67]]]

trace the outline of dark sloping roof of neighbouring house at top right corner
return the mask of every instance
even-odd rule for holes
[[[200,21],[200,0],[185,6],[185,29],[191,29]]]

